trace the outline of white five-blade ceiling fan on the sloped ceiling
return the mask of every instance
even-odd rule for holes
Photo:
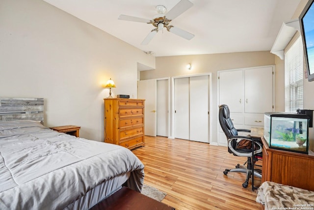
[[[147,45],[153,37],[156,35],[156,33],[159,30],[163,30],[163,28],[166,28],[168,31],[181,36],[187,40],[190,40],[194,37],[194,34],[189,33],[185,30],[179,29],[177,27],[169,25],[169,23],[181,15],[183,12],[185,12],[188,8],[193,6],[193,3],[189,0],[181,0],[179,3],[177,3],[169,12],[165,14],[167,11],[167,8],[163,5],[157,5],[157,15],[153,17],[153,20],[145,19],[145,18],[138,18],[128,15],[120,15],[119,20],[125,20],[125,21],[134,21],[134,22],[140,22],[140,23],[147,23],[152,24],[156,27],[156,29],[151,30],[151,32],[146,36],[146,38],[142,41],[142,45]]]

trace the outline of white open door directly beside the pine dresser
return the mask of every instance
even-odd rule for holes
[[[140,80],[138,98],[145,99],[145,135],[156,136],[156,92],[157,80]]]

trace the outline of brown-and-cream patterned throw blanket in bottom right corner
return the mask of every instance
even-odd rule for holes
[[[314,210],[314,191],[265,181],[258,189],[256,202],[265,210]]]

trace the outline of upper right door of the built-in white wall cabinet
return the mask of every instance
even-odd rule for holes
[[[245,112],[272,112],[273,68],[261,67],[245,70]]]

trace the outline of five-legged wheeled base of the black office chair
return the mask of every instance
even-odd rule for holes
[[[226,169],[223,173],[224,175],[227,175],[229,172],[240,172],[246,174],[246,180],[242,183],[242,187],[247,188],[247,186],[249,185],[249,180],[252,177],[252,162],[250,157],[248,157],[247,163],[248,167],[246,167],[245,165],[237,164],[234,169]],[[262,170],[254,169],[253,175],[255,177],[262,178]],[[257,189],[257,187],[254,186],[254,181],[252,180],[252,190],[254,189]]]

